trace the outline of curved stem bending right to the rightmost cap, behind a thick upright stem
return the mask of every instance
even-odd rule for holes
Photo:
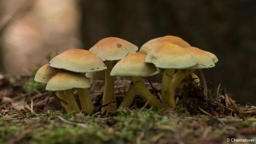
[[[178,70],[174,75],[172,79],[172,85],[171,85],[171,93],[170,97],[174,100],[175,97],[175,90],[177,86],[180,84],[180,82],[186,77],[192,74],[195,71],[195,69],[188,69],[188,70]]]

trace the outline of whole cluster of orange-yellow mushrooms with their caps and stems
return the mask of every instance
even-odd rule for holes
[[[88,92],[91,85],[87,78],[105,81],[101,113],[107,108],[109,111],[129,108],[137,93],[151,107],[172,110],[176,88],[189,83],[199,84],[200,80],[193,72],[212,68],[216,62],[218,59],[214,54],[192,47],[177,36],[152,39],[143,44],[139,52],[136,45],[126,40],[108,37],[89,51],[71,49],[55,56],[37,71],[35,81],[47,84],[46,90],[56,93],[67,112],[81,112],[73,93],[76,88],[82,111],[93,114],[94,106]],[[162,100],[159,100],[147,89],[142,77],[161,71]],[[132,79],[119,107],[114,93],[115,76]]]

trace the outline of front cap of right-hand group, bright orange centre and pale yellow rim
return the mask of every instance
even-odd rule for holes
[[[158,68],[184,69],[196,65],[195,58],[187,49],[171,42],[158,44],[148,53],[145,61]]]

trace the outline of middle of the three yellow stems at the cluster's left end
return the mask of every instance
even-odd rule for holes
[[[73,90],[72,89],[65,90],[65,93],[66,93],[69,108],[72,111],[75,110],[76,113],[80,113],[80,109],[79,109],[79,107],[76,103],[76,99],[75,99],[75,96],[73,94]]]

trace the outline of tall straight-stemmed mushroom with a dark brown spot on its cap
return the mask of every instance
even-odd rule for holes
[[[116,60],[121,60],[125,56],[136,53],[138,47],[126,40],[117,37],[107,37],[101,39],[92,48],[90,52],[96,54],[101,60],[105,61],[107,69],[105,70],[105,87],[103,93],[102,105],[116,101],[114,95],[114,84],[115,76],[110,76],[110,72],[114,67]],[[110,105],[110,110],[116,110],[116,102]],[[106,107],[101,108],[101,113],[107,109]]]

